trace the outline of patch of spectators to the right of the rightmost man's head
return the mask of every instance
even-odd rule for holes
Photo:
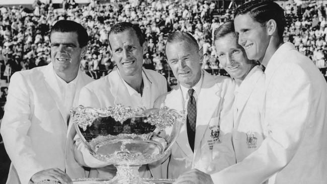
[[[325,74],[327,67],[324,50],[327,45],[326,5],[319,2],[301,1],[300,4],[286,4],[284,9],[287,20],[284,41],[292,42]]]

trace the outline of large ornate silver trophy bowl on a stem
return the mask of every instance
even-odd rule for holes
[[[185,114],[167,107],[135,110],[119,104],[105,109],[79,106],[72,109],[71,120],[90,153],[117,168],[116,176],[106,183],[152,183],[139,176],[138,168],[165,159]]]

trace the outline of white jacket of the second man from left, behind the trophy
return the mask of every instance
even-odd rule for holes
[[[146,105],[146,108],[153,108],[155,99],[167,93],[167,80],[163,75],[154,70],[143,69],[143,72],[150,82],[150,96],[147,97],[149,98],[149,104]],[[118,73],[118,69],[113,70],[107,76],[95,80],[81,89],[78,104],[93,108],[106,108],[116,104],[137,108],[134,107],[133,99],[129,95],[126,85]],[[85,166],[98,168],[97,170],[92,169],[89,177],[115,176],[115,167],[112,165],[106,166],[108,164],[94,158],[85,148],[84,144],[81,143],[78,135],[75,136],[74,140],[76,141],[75,156],[77,161]],[[142,166],[140,171],[144,177],[151,176],[151,173],[146,169],[146,165]]]

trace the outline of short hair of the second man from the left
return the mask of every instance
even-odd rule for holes
[[[140,45],[142,46],[143,43],[145,42],[145,36],[143,35],[140,27],[137,24],[132,24],[129,22],[119,22],[119,23],[116,23],[115,25],[113,25],[108,33],[108,40],[109,40],[109,36],[111,34],[122,33],[129,29],[135,31],[136,37],[138,38],[138,41],[140,42]],[[110,46],[110,42],[109,42],[109,46]],[[110,46],[110,48],[111,48],[111,46]]]

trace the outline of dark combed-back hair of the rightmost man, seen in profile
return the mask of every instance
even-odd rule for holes
[[[235,10],[234,18],[238,15],[250,14],[250,17],[264,24],[273,19],[277,23],[277,31],[280,39],[283,38],[283,33],[286,26],[284,10],[277,3],[271,0],[256,0],[241,5]]]

